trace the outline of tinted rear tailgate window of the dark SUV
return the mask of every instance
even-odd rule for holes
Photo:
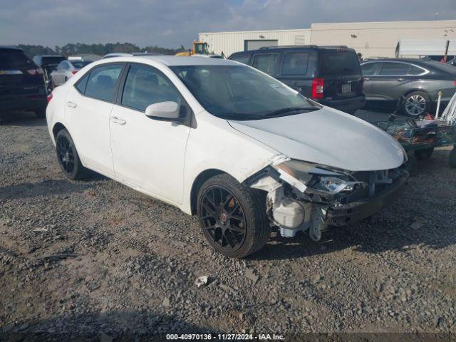
[[[353,50],[321,50],[321,75],[362,75],[358,56]]]

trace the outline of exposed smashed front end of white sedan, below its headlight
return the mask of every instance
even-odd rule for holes
[[[351,200],[313,195],[314,190],[270,167],[252,177],[248,184],[267,192],[266,213],[271,224],[280,228],[282,236],[294,237],[296,232],[302,231],[319,240],[321,232],[328,227],[353,224],[393,202],[405,190],[408,172],[403,167],[391,172],[394,175],[391,178],[385,177],[388,172],[382,171],[365,174],[369,181],[358,182],[363,185],[358,192],[353,192],[355,197]],[[383,176],[378,178],[378,175]],[[381,186],[377,189],[375,185]]]

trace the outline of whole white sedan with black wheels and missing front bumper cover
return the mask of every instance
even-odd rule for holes
[[[229,257],[271,227],[314,240],[403,190],[406,154],[388,134],[233,61],[175,56],[91,63],[48,104],[70,180],[88,169],[197,214]]]

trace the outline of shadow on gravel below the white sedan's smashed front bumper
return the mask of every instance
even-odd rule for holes
[[[323,233],[319,242],[312,241],[307,234],[296,234],[294,238],[273,234],[269,243],[249,259],[305,258],[352,247],[355,247],[356,252],[377,254],[387,251],[408,252],[420,246],[442,249],[456,244],[451,224],[430,229],[426,224],[402,223],[391,225],[386,219],[366,219],[351,226],[333,228]]]

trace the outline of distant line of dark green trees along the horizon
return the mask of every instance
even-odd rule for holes
[[[25,53],[33,57],[35,55],[52,55],[58,54],[63,56],[78,55],[81,53],[94,53],[95,55],[104,56],[107,53],[113,52],[152,52],[161,53],[163,55],[175,55],[177,52],[183,51],[185,48],[162,48],[160,46],[146,46],[140,48],[133,43],[107,43],[107,44],[85,44],[85,43],[68,43],[64,46],[55,46],[50,48],[48,46],[41,45],[24,45],[19,44],[19,48],[22,48]]]

